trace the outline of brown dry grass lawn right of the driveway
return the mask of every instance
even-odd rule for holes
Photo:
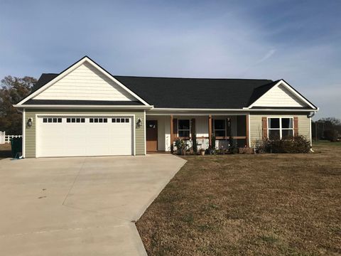
[[[341,255],[341,146],[187,156],[136,223],[148,255]]]

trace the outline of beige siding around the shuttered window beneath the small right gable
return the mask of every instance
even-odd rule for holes
[[[278,113],[250,113],[250,139],[251,146],[256,140],[261,140],[261,117],[298,117],[298,134],[310,140],[310,118],[307,114],[295,112]]]

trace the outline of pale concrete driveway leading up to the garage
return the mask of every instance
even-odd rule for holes
[[[0,161],[1,255],[146,255],[134,225],[171,154]]]

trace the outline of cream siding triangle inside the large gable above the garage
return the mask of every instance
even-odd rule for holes
[[[33,100],[136,100],[129,92],[85,62]]]

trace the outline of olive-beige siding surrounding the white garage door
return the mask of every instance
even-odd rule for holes
[[[144,110],[134,111],[113,111],[113,110],[27,110],[26,109],[26,122],[28,118],[33,119],[31,127],[26,127],[25,135],[25,157],[36,157],[36,114],[134,114],[135,122],[141,118],[141,127],[135,126],[135,150],[136,155],[145,154],[145,136],[144,136]],[[53,145],[51,145],[53,146]]]

